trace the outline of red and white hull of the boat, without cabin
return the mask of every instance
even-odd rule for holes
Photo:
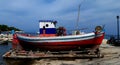
[[[89,37],[89,38],[87,38]],[[65,51],[65,50],[77,50],[79,48],[93,48],[96,45],[100,45],[104,38],[104,33],[80,37],[84,39],[73,39],[68,40],[65,38],[63,41],[56,39],[51,41],[26,41],[25,39],[17,38],[20,46],[25,50],[42,50],[42,51]],[[77,39],[77,40],[76,40]]]

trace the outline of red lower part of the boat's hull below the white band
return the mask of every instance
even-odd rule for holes
[[[16,42],[20,43],[19,45],[23,49],[61,51],[61,50],[76,50],[78,48],[92,48],[96,45],[100,45],[102,43],[103,38],[104,33],[102,33],[102,36],[80,41],[30,43],[22,40],[16,40]],[[16,47],[15,45],[16,43],[13,42],[13,48]]]

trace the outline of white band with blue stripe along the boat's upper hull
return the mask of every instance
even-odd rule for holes
[[[20,40],[26,42],[71,42],[71,41],[82,41],[95,38],[94,33],[88,33],[84,35],[71,35],[71,36],[59,36],[59,37],[27,37],[22,35],[17,35]],[[101,36],[98,35],[97,37]]]

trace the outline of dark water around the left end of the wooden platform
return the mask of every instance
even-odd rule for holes
[[[3,55],[12,48],[12,43],[0,45],[0,65],[32,65],[34,60],[3,59]]]

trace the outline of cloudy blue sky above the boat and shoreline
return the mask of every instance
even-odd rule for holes
[[[116,34],[120,0],[0,0],[0,24],[37,32],[39,20],[57,20],[58,26],[72,30],[79,4],[80,29],[88,28],[90,32],[97,25],[105,25],[107,34]]]

